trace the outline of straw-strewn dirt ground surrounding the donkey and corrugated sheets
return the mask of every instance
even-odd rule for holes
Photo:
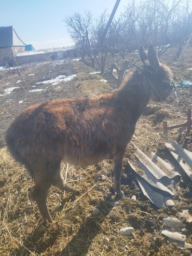
[[[172,69],[176,49],[170,49],[161,59]],[[134,70],[132,63],[138,60],[135,53],[126,56],[130,60],[129,72]],[[189,47],[174,70],[175,83],[180,80],[192,81],[192,48]],[[119,204],[113,204],[112,195],[112,159],[104,160],[97,166],[80,168],[62,165],[63,174],[68,169],[67,182],[79,188],[81,194],[73,196],[52,187],[48,197],[48,207],[54,219],[48,224],[39,215],[36,203],[31,199],[33,181],[25,168],[16,163],[8,154],[4,134],[11,121],[27,106],[58,98],[79,96],[97,96],[116,89],[108,77],[111,63],[118,65],[122,60],[106,60],[106,73],[89,74],[92,70],[77,60],[54,61],[25,68],[18,71],[0,71],[0,95],[5,89],[18,86],[10,94],[0,96],[0,254],[1,255],[63,255],[63,256],[99,256],[99,255],[190,255],[189,250],[181,250],[161,235],[162,219],[178,217],[181,210],[192,210],[192,185],[187,177],[175,184],[174,207],[158,209],[145,198],[135,183],[134,174],[129,170],[128,161],[134,163],[133,148],[128,145],[124,158],[122,190],[125,197]],[[136,65],[140,65],[139,60]],[[34,75],[31,75],[34,74]],[[59,75],[76,77],[69,82],[53,84],[35,84]],[[30,75],[30,76],[29,76]],[[105,83],[102,79],[106,79]],[[17,83],[18,80],[21,82]],[[32,87],[35,86],[36,87]],[[30,92],[33,89],[44,89]],[[150,102],[136,125],[134,143],[146,154],[157,153],[163,159],[175,160],[166,150],[164,142],[176,140],[192,151],[190,136],[182,135],[177,129],[169,131],[168,138],[163,136],[162,122],[168,125],[186,122],[187,109],[192,104],[192,87],[177,88],[177,99],[171,103]],[[22,103],[19,103],[22,101]],[[101,179],[101,175],[105,179]],[[136,200],[131,199],[135,195]],[[92,215],[94,207],[100,209],[98,217]],[[132,226],[135,232],[122,236],[120,228]],[[192,244],[192,227],[186,227],[183,234]],[[107,237],[106,244],[103,238]]]

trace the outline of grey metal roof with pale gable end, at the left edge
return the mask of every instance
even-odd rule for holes
[[[9,46],[24,46],[25,44],[12,26],[0,27],[0,48]]]

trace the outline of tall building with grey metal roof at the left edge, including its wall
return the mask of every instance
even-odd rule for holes
[[[13,56],[25,50],[25,43],[13,26],[0,27],[0,66],[13,65]]]

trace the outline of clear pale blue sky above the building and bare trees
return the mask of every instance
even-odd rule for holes
[[[129,0],[121,0],[117,15]],[[116,0],[6,0],[1,1],[0,26],[13,25],[26,44],[36,49],[73,45],[63,19],[78,11],[91,10],[100,15],[111,13]]]

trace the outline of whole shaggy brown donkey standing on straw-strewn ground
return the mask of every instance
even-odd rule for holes
[[[78,192],[64,182],[60,163],[85,167],[114,157],[114,188],[121,198],[122,159],[135,124],[149,99],[172,101],[175,86],[169,68],[160,63],[153,46],[140,47],[144,66],[113,93],[97,98],[60,99],[28,107],[10,125],[8,149],[35,181],[33,196],[40,213],[52,218],[46,205],[51,185]]]

